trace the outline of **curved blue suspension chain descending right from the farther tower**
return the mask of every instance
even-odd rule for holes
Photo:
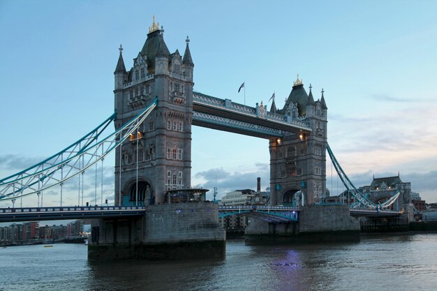
[[[375,202],[372,202],[371,200],[369,200],[368,195],[363,194],[360,190],[357,189],[357,187],[355,187],[352,181],[350,181],[348,175],[343,171],[343,168],[339,164],[339,161],[337,161],[337,159],[335,158],[331,147],[329,147],[329,144],[327,144],[326,149],[329,154],[329,158],[331,158],[332,165],[334,165],[334,168],[341,181],[343,182],[343,185],[346,187],[348,193],[350,193],[350,195],[353,195],[353,197],[355,198],[355,202],[350,204],[350,208],[366,207],[385,209],[387,207],[390,207],[401,194],[401,191],[398,190],[397,193],[395,193],[392,197],[390,197],[390,199],[383,202],[382,204],[376,204]]]

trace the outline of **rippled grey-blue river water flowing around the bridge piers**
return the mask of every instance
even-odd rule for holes
[[[223,260],[87,261],[87,246],[0,248],[0,290],[437,290],[437,234],[246,246]]]

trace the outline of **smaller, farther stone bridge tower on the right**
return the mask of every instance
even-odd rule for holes
[[[314,101],[309,87],[306,94],[302,80],[293,82],[292,91],[278,113],[288,119],[303,121],[310,133],[284,133],[271,139],[270,191],[272,204],[311,205],[320,203],[326,191],[327,106],[325,97]],[[276,110],[276,105],[272,105]],[[300,192],[302,191],[302,192]]]

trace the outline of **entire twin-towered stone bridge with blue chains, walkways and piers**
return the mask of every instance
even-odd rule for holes
[[[31,207],[29,211],[22,207],[21,211],[3,209],[0,217],[6,220],[26,217],[30,220],[100,216],[94,230],[104,235],[97,236],[100,241],[91,241],[90,258],[99,255],[110,258],[115,253],[117,258],[133,258],[132,250],[124,252],[115,248],[120,244],[131,249],[132,241],[142,244],[147,253],[145,258],[153,257],[154,254],[147,250],[155,249],[159,244],[180,246],[187,241],[200,241],[205,249],[215,250],[212,256],[221,256],[225,238],[217,218],[230,215],[232,211],[205,202],[205,191],[190,189],[191,126],[269,140],[271,207],[285,208],[244,209],[247,215],[258,217],[265,223],[297,223],[302,232],[339,230],[355,233],[359,230],[359,223],[350,218],[348,206],[315,206],[322,202],[326,191],[326,152],[341,181],[355,197],[353,207],[366,207],[362,215],[383,215],[377,207],[390,207],[398,199],[399,194],[393,195],[378,206],[353,186],[341,169],[327,144],[327,105],[323,89],[320,98],[315,100],[311,85],[307,93],[302,80],[297,77],[280,109],[274,100],[268,109],[262,101],[251,107],[228,98],[195,92],[194,62],[189,42],[187,36],[183,56],[179,50],[170,53],[163,29],[154,22],[129,70],[126,70],[120,45],[114,70],[114,114],[58,154],[1,179],[0,200],[12,201],[15,209],[16,200],[38,195],[38,207]],[[103,134],[109,130],[111,122],[114,122],[114,132]],[[111,151],[115,152],[114,209],[84,209],[83,174],[95,166],[97,175],[97,163],[103,163]],[[78,206],[65,210],[62,208],[63,185],[71,179],[78,181]],[[42,210],[43,193],[52,188],[60,191],[59,211]],[[293,209],[291,206],[296,201],[299,208]],[[133,211],[126,207],[133,207]],[[357,213],[358,210],[353,211]],[[124,223],[114,218],[116,213],[123,218],[122,221],[128,216],[135,217]],[[395,215],[399,216],[399,212]],[[252,234],[265,230],[265,226],[253,225]],[[289,230],[286,227],[283,232],[290,234]],[[292,235],[296,230],[293,227]],[[114,245],[114,253],[105,253],[110,244]],[[99,245],[105,248],[98,248]],[[188,248],[192,249],[194,245]]]

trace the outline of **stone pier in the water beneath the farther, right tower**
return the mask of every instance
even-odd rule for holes
[[[297,223],[273,224],[251,218],[246,244],[360,241],[360,223],[347,205],[302,207]]]

